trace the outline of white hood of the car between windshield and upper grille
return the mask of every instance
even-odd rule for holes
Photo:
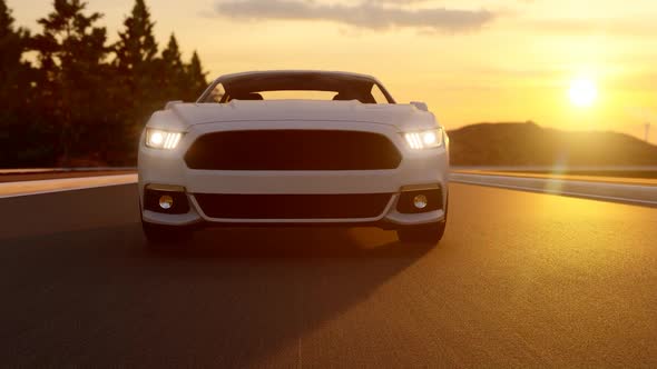
[[[239,121],[364,122],[400,130],[435,126],[431,112],[411,104],[364,104],[357,101],[272,100],[229,103],[176,103],[156,112],[153,120],[175,119],[182,128]],[[158,124],[159,126],[159,124]]]

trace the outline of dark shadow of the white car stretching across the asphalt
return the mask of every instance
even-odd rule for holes
[[[154,252],[137,223],[3,249],[0,357],[148,367],[296,366],[303,337],[430,251],[379,230],[243,228]]]

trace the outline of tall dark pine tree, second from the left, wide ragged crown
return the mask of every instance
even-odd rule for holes
[[[49,113],[59,124],[59,150],[63,164],[70,156],[97,156],[109,138],[110,110],[106,84],[109,49],[107,31],[94,24],[100,13],[85,14],[81,0],[55,0],[53,11],[39,19],[41,33],[35,49],[48,79],[40,90]],[[84,137],[84,139],[82,139]]]

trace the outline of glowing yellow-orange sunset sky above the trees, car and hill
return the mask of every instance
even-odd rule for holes
[[[423,100],[448,128],[533,120],[657,143],[655,0],[146,0],[160,46],[171,31],[210,77],[329,69],[379,77],[398,101]],[[175,3],[175,6],[173,6]],[[110,41],[134,0],[90,0]],[[8,0],[20,26],[47,0]],[[577,104],[569,89],[594,86]],[[588,83],[588,84],[587,84]],[[581,84],[581,83],[580,83]],[[576,92],[577,93],[577,92]]]

